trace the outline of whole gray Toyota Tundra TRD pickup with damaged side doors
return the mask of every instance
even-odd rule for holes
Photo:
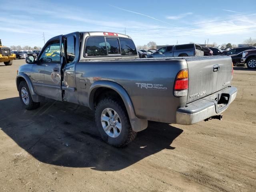
[[[45,98],[87,106],[102,139],[116,147],[148,120],[190,125],[222,118],[237,93],[230,56],[139,59],[132,39],[118,33],[56,36],[26,63],[16,77],[24,108]]]

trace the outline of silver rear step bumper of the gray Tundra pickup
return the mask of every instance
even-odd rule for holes
[[[202,120],[222,114],[231,102],[234,101],[237,94],[237,88],[227,87],[212,95],[196,100],[187,104],[184,108],[178,108],[176,111],[176,123],[182,125],[191,125]],[[218,104],[215,98],[225,96],[227,102],[222,105]]]

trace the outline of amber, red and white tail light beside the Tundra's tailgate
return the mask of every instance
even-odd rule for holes
[[[174,96],[186,97],[188,96],[188,69],[178,72],[174,82]]]

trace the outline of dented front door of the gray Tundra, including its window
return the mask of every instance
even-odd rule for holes
[[[62,100],[61,90],[61,36],[48,42],[40,53],[38,58],[38,66],[43,66],[42,73],[44,81],[40,85],[42,96],[52,98],[54,100]]]

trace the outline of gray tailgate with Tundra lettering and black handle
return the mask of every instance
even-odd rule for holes
[[[188,63],[188,101],[190,103],[230,86],[230,56],[186,58]]]

